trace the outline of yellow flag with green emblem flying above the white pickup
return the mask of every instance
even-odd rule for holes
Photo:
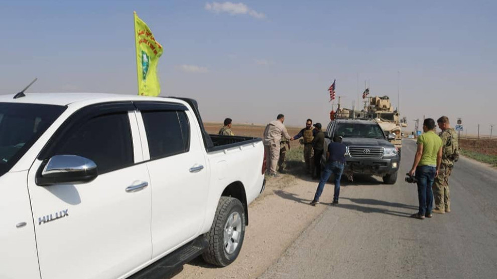
[[[161,93],[157,64],[164,51],[145,22],[135,12],[135,43],[137,50],[138,95],[158,96]]]

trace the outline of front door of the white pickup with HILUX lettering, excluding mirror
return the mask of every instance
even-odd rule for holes
[[[42,278],[116,278],[149,261],[151,189],[131,102],[80,109],[52,136],[33,164],[29,192]],[[86,183],[52,183],[47,160],[92,160]],[[40,186],[44,184],[44,186]]]

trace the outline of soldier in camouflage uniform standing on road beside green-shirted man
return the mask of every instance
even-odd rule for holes
[[[442,130],[439,133],[442,138],[442,163],[438,171],[438,176],[433,182],[433,196],[435,199],[435,209],[433,213],[444,214],[450,212],[449,176],[454,167],[454,162],[459,159],[459,144],[457,132],[450,127],[449,118],[442,116],[438,118],[438,127]]]

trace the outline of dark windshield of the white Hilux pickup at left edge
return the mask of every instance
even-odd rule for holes
[[[58,105],[0,103],[0,176],[14,166],[64,110],[64,106]]]

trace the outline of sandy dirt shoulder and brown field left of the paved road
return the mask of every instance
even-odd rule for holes
[[[217,133],[222,124],[206,123],[209,133]],[[264,126],[233,125],[235,135],[262,137]],[[301,128],[288,128],[296,135]],[[303,152],[298,141],[292,142],[296,153]],[[302,156],[303,158],[303,156]],[[325,187],[321,206],[310,206],[317,181],[304,172],[304,162],[295,156],[287,162],[288,173],[267,178],[266,189],[249,206],[250,226],[245,232],[243,248],[231,265],[218,268],[198,257],[166,278],[257,278],[275,263],[293,241],[319,216],[331,202],[331,187]],[[285,224],[285,225],[282,225]]]

